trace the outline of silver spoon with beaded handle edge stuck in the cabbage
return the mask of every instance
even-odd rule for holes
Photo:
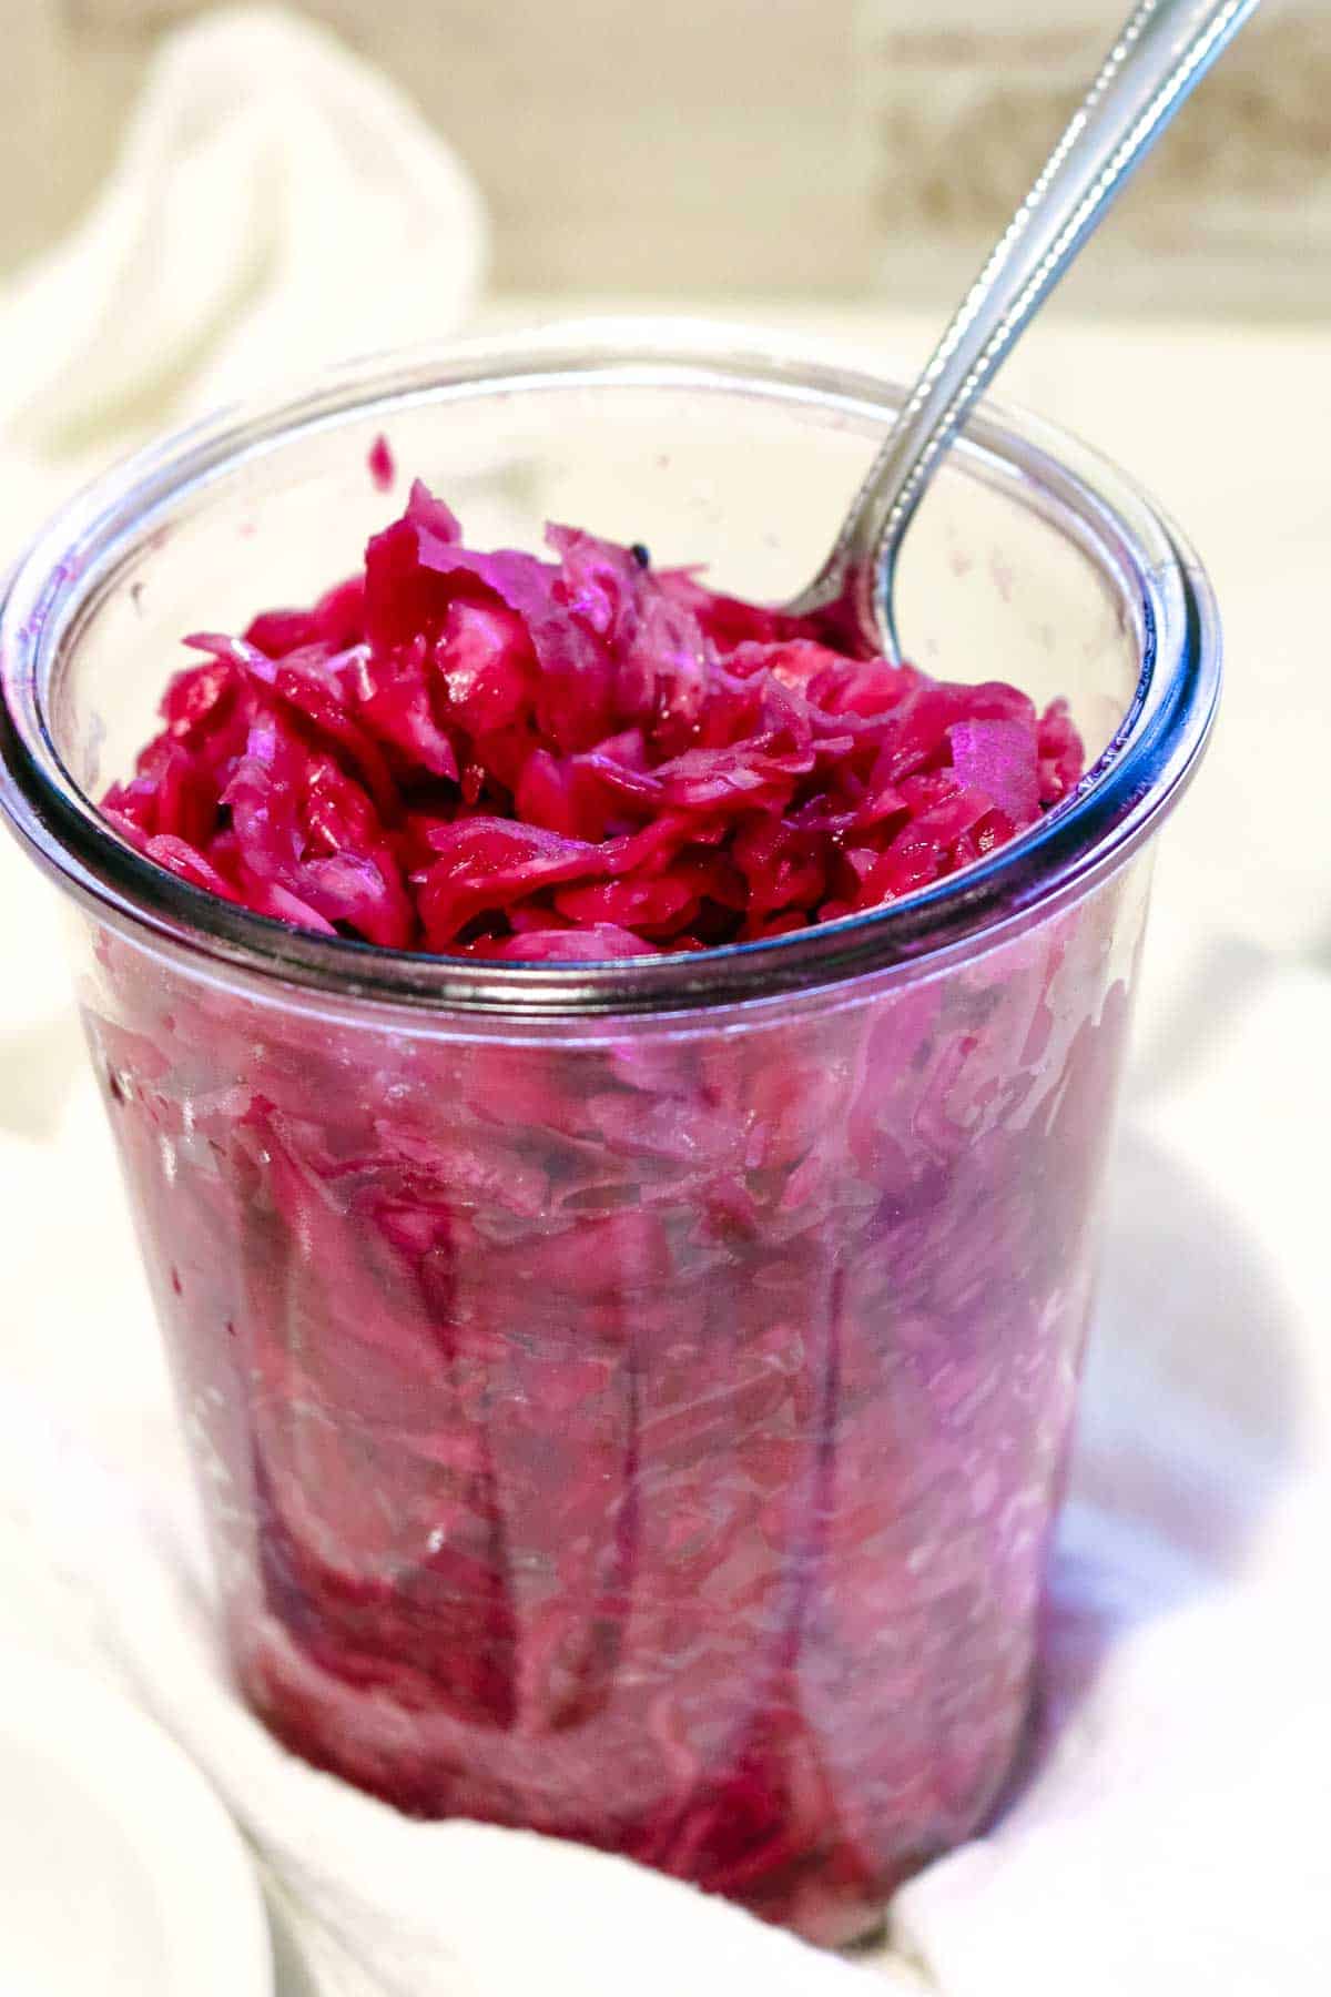
[[[788,605],[792,613],[818,615],[842,643],[900,661],[892,589],[924,487],[1113,196],[1255,6],[1141,0],[902,403],[832,553]]]

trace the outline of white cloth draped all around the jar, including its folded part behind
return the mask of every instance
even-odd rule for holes
[[[218,393],[459,324],[483,234],[447,148],[325,36],[184,30],[86,228],[0,300],[0,535]],[[1225,787],[1261,823],[1241,755]],[[1269,947],[1229,925],[1213,841],[1179,837],[1219,817],[1165,845],[1036,1761],[854,1963],[613,1857],[407,1823],[239,1705],[54,897],[0,841],[0,1640],[106,1673],[196,1757],[263,1863],[281,1997],[1325,1989],[1331,981],[1283,955],[1275,853]]]

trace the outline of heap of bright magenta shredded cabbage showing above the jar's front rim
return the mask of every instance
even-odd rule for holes
[[[383,451],[379,451],[383,445]],[[379,439],[371,469],[393,475]],[[698,951],[876,909],[1082,775],[1064,703],[852,659],[647,549],[473,553],[423,485],[363,575],[198,635],[106,815],[259,915],[499,959]]]

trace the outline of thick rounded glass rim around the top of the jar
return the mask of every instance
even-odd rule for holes
[[[954,457],[1082,543],[1135,625],[1139,675],[1113,739],[1072,797],[944,881],[760,943],[605,965],[495,965],[291,929],[178,879],[108,825],[56,749],[50,705],[88,577],[104,575],[116,549],[142,537],[146,515],[168,511],[245,455],[371,409],[387,419],[431,395],[611,383],[748,391],[880,423],[902,399],[894,383],[804,359],[784,343],[698,322],[617,320],[375,355],[150,445],[50,521],[0,597],[0,807],[34,857],[98,919],[243,973],[439,1012],[557,1018],[696,1010],[898,965],[920,975],[958,945],[986,945],[998,929],[1086,893],[1155,831],[1215,715],[1221,647],[1211,587],[1173,523],[1108,459],[1054,425],[988,403],[952,445]]]

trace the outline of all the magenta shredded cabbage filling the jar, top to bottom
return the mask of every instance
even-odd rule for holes
[[[200,635],[108,817],[281,923],[511,961],[778,937],[1076,785],[1066,709],[417,485]],[[820,1941],[994,1807],[1094,1270],[1139,895],[944,973],[535,1026],[106,933],[86,1014],[239,1681],[419,1815]]]

